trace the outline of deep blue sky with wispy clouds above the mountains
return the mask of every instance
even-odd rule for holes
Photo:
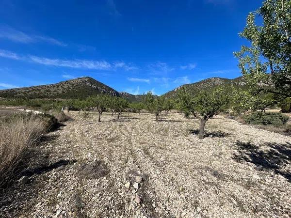
[[[0,0],[0,89],[89,76],[162,94],[236,78],[246,16],[261,0]]]

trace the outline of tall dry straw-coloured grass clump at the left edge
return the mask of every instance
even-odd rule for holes
[[[41,116],[19,116],[0,123],[0,187],[13,175],[28,146],[37,142],[48,123]]]

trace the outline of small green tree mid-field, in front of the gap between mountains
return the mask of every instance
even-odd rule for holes
[[[159,114],[163,110],[170,110],[170,104],[164,96],[154,96],[151,92],[147,92],[144,97],[146,109],[155,114],[156,121],[159,122]]]

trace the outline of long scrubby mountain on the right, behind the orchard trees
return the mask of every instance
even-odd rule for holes
[[[225,87],[230,87],[232,85],[235,88],[238,88],[238,87],[242,89],[246,88],[246,82],[244,78],[242,77],[238,77],[234,79],[213,77],[213,78],[207,78],[207,79],[201,80],[199,82],[179,86],[178,88],[170,92],[164,93],[163,95],[166,96],[167,98],[175,98],[177,96],[178,90],[181,89],[182,87],[185,88],[187,92],[195,94],[200,90],[211,89],[219,85],[222,85]]]

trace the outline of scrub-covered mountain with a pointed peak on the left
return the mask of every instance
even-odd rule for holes
[[[119,95],[113,88],[90,77],[66,80],[55,84],[0,90],[5,98],[79,98],[106,93]]]

